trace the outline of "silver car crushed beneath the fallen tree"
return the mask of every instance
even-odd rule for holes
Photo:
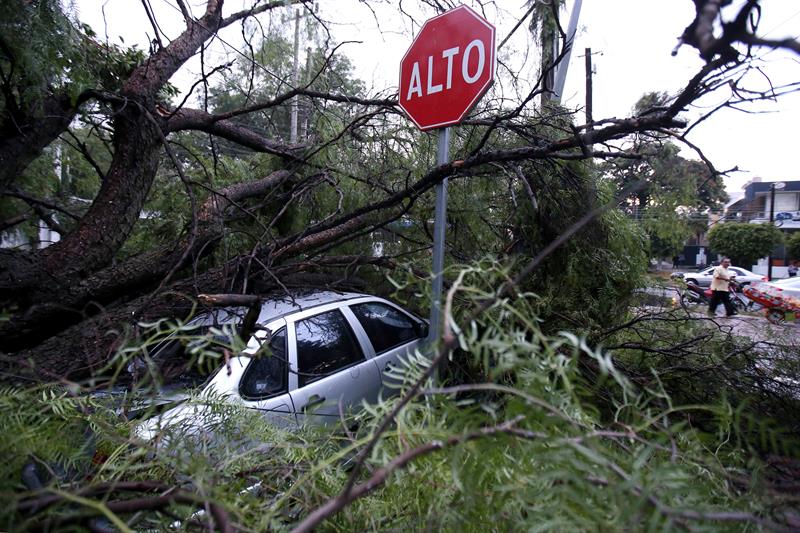
[[[329,291],[266,300],[257,324],[247,348],[220,365],[199,397],[258,410],[281,425],[336,423],[340,409],[396,391],[393,368],[428,333],[425,320],[387,300]],[[168,427],[205,425],[208,415],[202,401],[186,402],[136,433],[149,440]]]

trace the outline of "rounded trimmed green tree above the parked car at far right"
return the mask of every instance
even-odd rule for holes
[[[771,254],[782,242],[783,233],[770,224],[726,222],[708,232],[708,245],[712,250],[727,255],[734,265],[745,268],[759,257]]]

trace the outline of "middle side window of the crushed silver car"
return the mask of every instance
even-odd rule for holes
[[[347,319],[338,309],[295,324],[300,387],[365,360]]]

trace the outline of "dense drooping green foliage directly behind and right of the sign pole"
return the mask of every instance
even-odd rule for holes
[[[531,129],[543,137],[558,135],[555,126],[545,128],[537,124]],[[452,139],[453,159],[464,157],[480,140],[480,129],[461,130]],[[433,165],[435,141],[432,135],[416,135],[409,140],[407,155],[398,149],[377,161],[371,159],[376,168],[373,173],[380,174],[386,169],[385,175],[389,177],[397,175],[391,169],[399,167],[408,169],[412,178],[399,176],[389,186],[397,188],[413,181]],[[495,131],[487,146],[506,150],[521,146],[521,142],[507,132]],[[468,178],[451,179],[448,260],[458,264],[493,257],[513,265],[513,273],[588,211],[614,203],[615,193],[614,187],[600,180],[594,166],[586,162],[492,165]],[[390,225],[393,235],[383,241],[384,254],[413,253],[429,242],[433,209],[431,193],[416,202],[403,221]],[[402,238],[397,239],[397,234]],[[419,270],[430,268],[428,254],[418,254],[416,259]],[[622,316],[646,266],[645,234],[618,209],[611,208],[549,256],[525,281],[524,288],[539,295],[537,312],[546,321],[548,332],[576,325],[589,331]],[[427,297],[420,291],[413,301]]]

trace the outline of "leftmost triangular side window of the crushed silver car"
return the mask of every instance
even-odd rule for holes
[[[269,353],[253,359],[245,370],[239,392],[248,400],[262,399],[287,391],[286,328],[272,334]]]

